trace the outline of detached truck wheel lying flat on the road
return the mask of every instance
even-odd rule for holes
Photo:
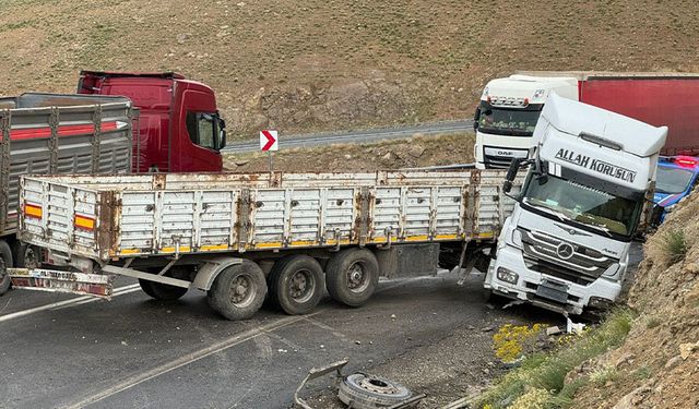
[[[412,396],[405,386],[384,377],[355,373],[343,380],[337,397],[356,409],[383,408],[404,402]]]

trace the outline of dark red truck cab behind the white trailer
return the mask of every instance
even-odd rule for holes
[[[140,109],[134,172],[217,172],[225,122],[209,86],[176,73],[82,71],[78,94],[128,97]]]

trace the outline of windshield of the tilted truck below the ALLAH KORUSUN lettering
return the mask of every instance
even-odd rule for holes
[[[607,236],[629,238],[636,228],[642,202],[548,175],[543,181],[530,177],[522,202],[548,214],[602,230]]]

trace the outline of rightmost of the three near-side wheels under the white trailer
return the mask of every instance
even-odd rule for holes
[[[367,249],[347,249],[330,258],[325,288],[330,297],[350,306],[367,302],[379,282],[379,263]]]

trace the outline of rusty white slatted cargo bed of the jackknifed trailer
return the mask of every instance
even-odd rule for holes
[[[503,171],[26,177],[23,240],[95,260],[494,238]],[[112,197],[110,200],[110,197]],[[112,203],[110,206],[106,203]],[[108,207],[108,208],[107,208]],[[93,215],[102,236],[76,231]],[[108,225],[108,226],[107,226]]]

